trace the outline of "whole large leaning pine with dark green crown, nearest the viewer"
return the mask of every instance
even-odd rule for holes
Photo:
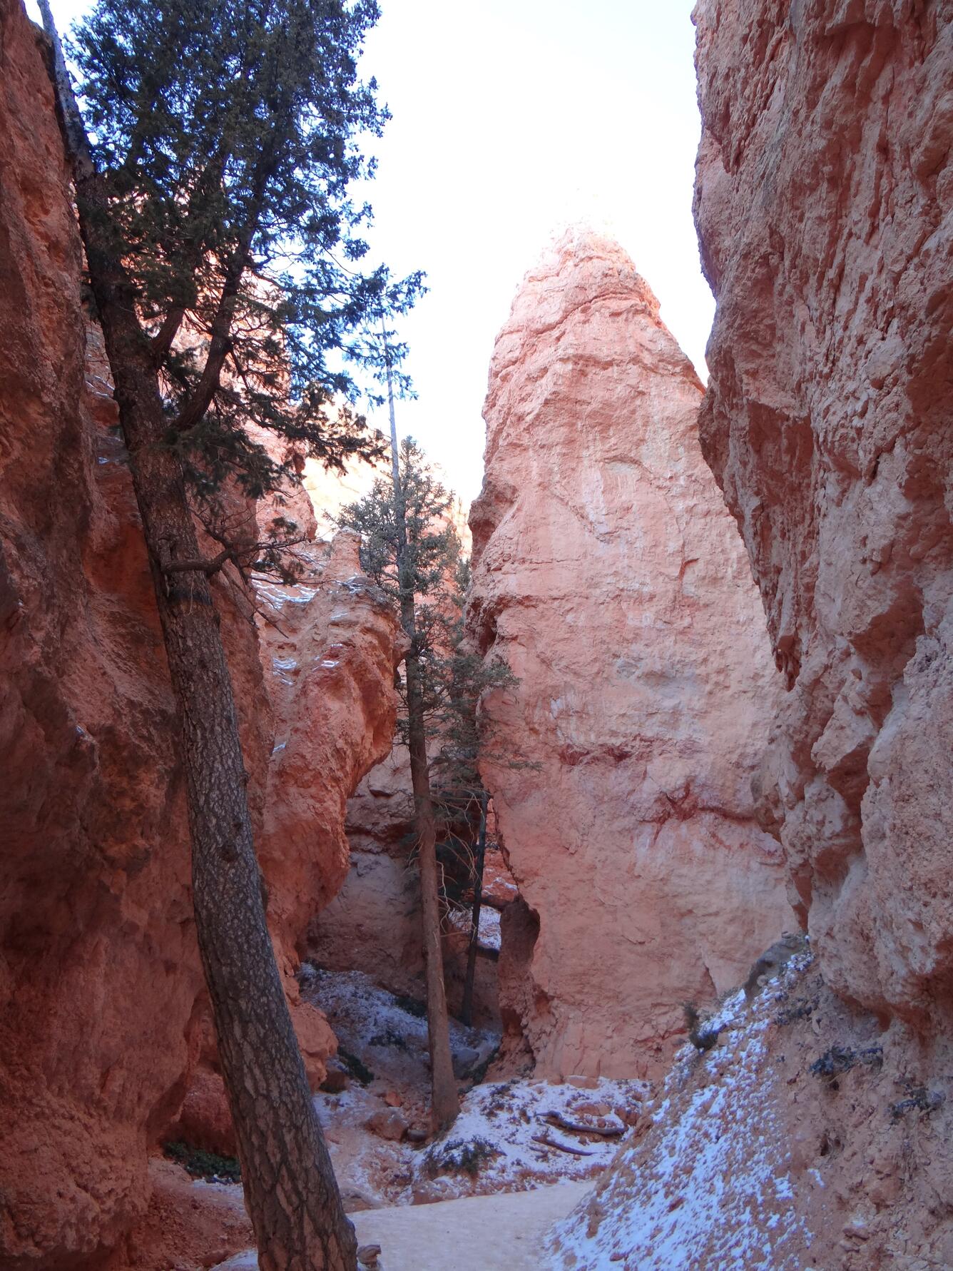
[[[349,1268],[266,925],[210,578],[260,550],[216,530],[222,483],[257,497],[296,478],[249,423],[329,464],[374,449],[334,397],[374,362],[370,320],[421,289],[361,271],[370,214],[348,196],[370,169],[357,137],[386,117],[356,70],[377,8],[98,0],[72,44],[85,117],[41,9],[180,718],[196,930],[259,1265]],[[211,558],[196,513],[224,539]]]

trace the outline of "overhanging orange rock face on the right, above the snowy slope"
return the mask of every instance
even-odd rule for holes
[[[953,975],[953,5],[701,3],[705,458],[790,691],[765,824],[841,994]]]

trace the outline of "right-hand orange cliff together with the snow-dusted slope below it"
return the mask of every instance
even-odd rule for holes
[[[953,4],[700,0],[701,445],[788,693],[816,960],[686,1049],[551,1265],[953,1266]]]

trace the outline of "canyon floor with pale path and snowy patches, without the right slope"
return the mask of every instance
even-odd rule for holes
[[[643,1112],[648,1084],[573,1078],[473,1085],[451,1130],[424,1141],[429,1074],[421,1004],[358,971],[302,972],[302,995],[327,1013],[339,1068],[349,1073],[339,1093],[315,1096],[315,1108],[344,1207],[358,1240],[384,1247],[382,1271],[540,1267],[543,1233],[612,1159]],[[451,1019],[455,1056],[476,1070],[498,1040]],[[367,1125],[394,1113],[421,1141],[391,1141]],[[238,1187],[226,1190],[240,1196]],[[221,1271],[255,1267],[247,1252]]]

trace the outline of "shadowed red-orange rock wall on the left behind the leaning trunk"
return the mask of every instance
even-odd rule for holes
[[[0,0],[0,1263],[91,1266],[144,1214],[147,1149],[208,1045],[152,585],[19,0]],[[314,599],[285,597],[294,655],[217,588],[286,974],[395,709],[395,622],[353,544],[313,563]],[[318,1078],[333,1038],[295,1017]]]

